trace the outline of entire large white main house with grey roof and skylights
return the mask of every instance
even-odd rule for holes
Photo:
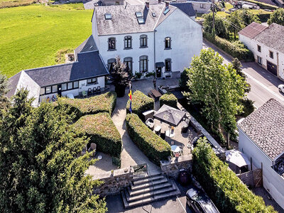
[[[96,7],[92,35],[109,70],[116,56],[133,75],[156,72],[166,78],[189,67],[202,49],[202,26],[194,21],[191,4],[174,5]]]

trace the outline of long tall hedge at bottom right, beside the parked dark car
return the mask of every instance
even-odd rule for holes
[[[204,140],[205,139],[205,140]],[[201,138],[193,150],[192,173],[220,212],[275,212],[244,185]]]

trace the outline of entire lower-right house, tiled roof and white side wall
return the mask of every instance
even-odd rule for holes
[[[262,168],[263,187],[284,208],[284,107],[270,99],[239,122],[239,151]],[[254,169],[253,168],[253,169]]]

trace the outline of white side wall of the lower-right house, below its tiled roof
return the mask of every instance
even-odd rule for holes
[[[284,208],[284,178],[273,170],[271,158],[263,153],[241,129],[239,129],[239,151],[252,159],[253,169],[262,167],[263,187],[280,207]]]

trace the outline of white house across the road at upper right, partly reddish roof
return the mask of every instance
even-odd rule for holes
[[[284,80],[284,26],[251,23],[239,31],[239,40],[253,52],[256,62]]]

